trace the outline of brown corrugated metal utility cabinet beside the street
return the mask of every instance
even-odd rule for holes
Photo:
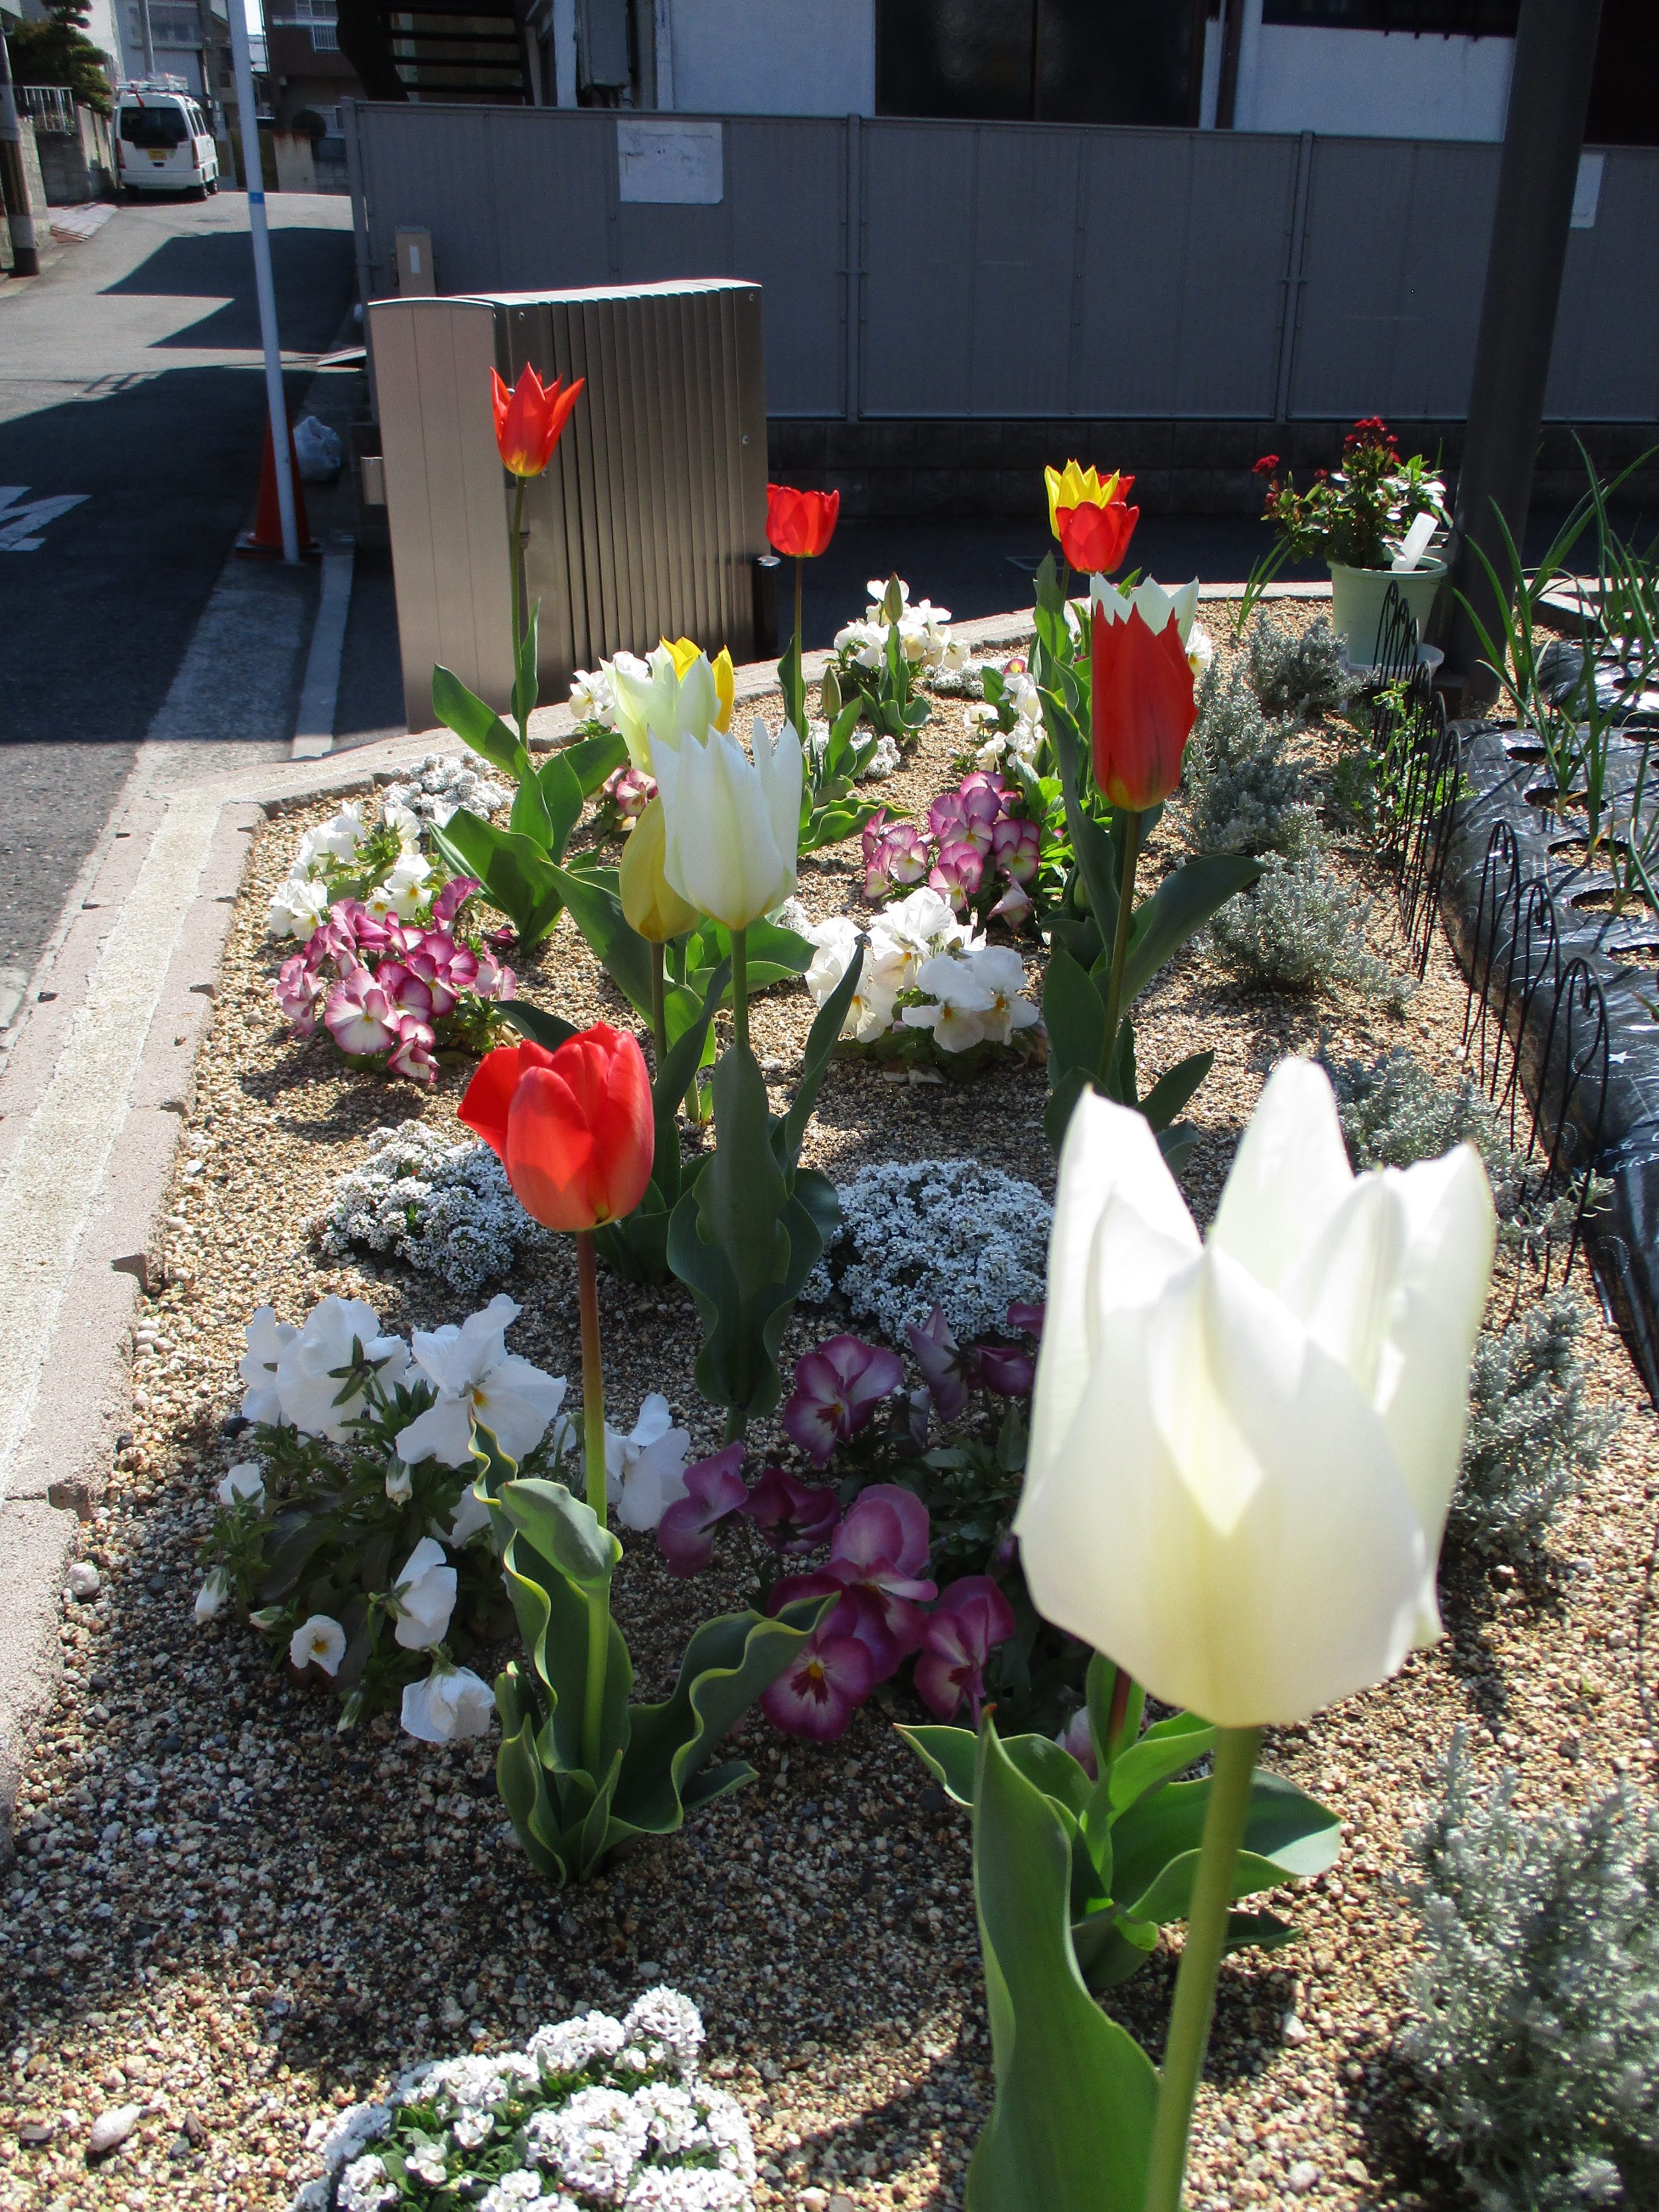
[[[403,697],[427,730],[436,661],[507,708],[511,489],[489,372],[586,376],[529,484],[542,699],[659,637],[754,659],[765,553],[761,288],[732,279],[369,305]]]

